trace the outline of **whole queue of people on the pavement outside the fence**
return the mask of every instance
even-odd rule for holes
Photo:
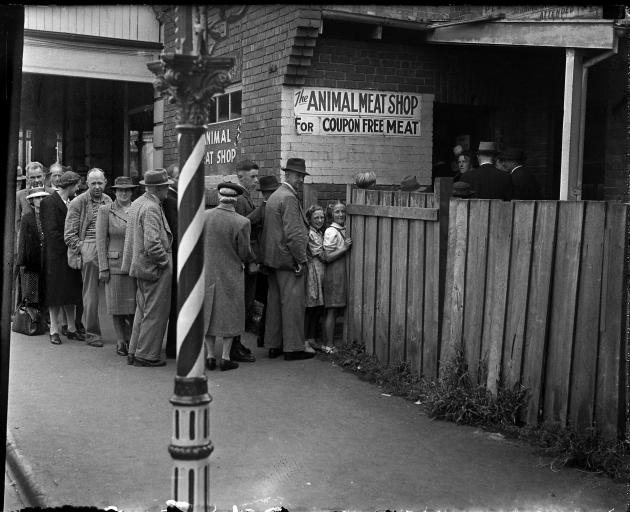
[[[221,371],[255,362],[241,340],[256,300],[263,305],[257,344],[269,358],[287,361],[333,350],[334,328],[346,305],[345,258],[352,245],[345,205],[314,205],[305,215],[300,196],[308,175],[301,158],[289,158],[285,180],[258,178],[255,162],[239,164],[239,183],[217,187],[218,205],[204,216],[204,334],[206,368]],[[174,258],[177,244],[178,169],[146,171],[138,184],[107,180],[98,168],[81,178],[60,164],[26,168],[18,192],[16,268],[21,296],[47,310],[49,340],[102,347],[99,289],[116,336],[116,353],[133,366],[158,367],[175,356],[177,318]],[[145,192],[132,201],[138,188]],[[252,193],[264,200],[256,206]],[[170,198],[170,205],[169,205]],[[173,211],[174,207],[174,211]],[[169,350],[170,347],[170,350]]]

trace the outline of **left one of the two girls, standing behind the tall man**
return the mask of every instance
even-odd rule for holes
[[[309,224],[308,245],[306,246],[306,312],[304,315],[304,350],[313,352],[320,349],[317,343],[317,328],[324,314],[324,275],[326,253],[324,251],[324,209],[312,205],[306,210]]]

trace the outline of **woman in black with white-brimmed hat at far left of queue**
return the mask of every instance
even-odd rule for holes
[[[22,299],[40,304],[44,298],[44,231],[42,229],[40,204],[48,196],[43,187],[31,189],[26,199],[31,211],[22,217],[15,264],[20,268]]]

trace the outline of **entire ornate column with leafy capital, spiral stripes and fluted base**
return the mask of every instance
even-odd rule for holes
[[[204,124],[210,100],[230,83],[234,59],[210,57],[205,44],[205,7],[175,8],[177,50],[147,66],[154,87],[178,107],[180,177],[177,210],[177,375],[173,404],[172,498],[210,509],[210,401],[203,346]],[[193,40],[193,27],[196,34]]]

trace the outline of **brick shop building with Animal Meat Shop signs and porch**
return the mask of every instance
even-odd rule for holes
[[[283,4],[206,15],[212,54],[236,62],[212,106],[208,186],[240,159],[280,174],[294,156],[324,193],[362,171],[379,185],[410,174],[430,185],[455,145],[494,140],[525,150],[545,198],[621,198],[625,64],[619,21],[601,6]],[[166,51],[175,36],[165,16]],[[159,122],[166,166],[177,161],[175,107]]]

